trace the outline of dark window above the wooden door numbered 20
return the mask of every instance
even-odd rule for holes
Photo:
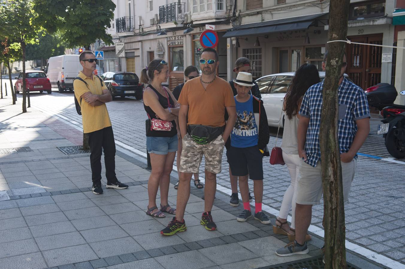
[[[385,15],[385,0],[361,2],[350,5],[349,20]]]

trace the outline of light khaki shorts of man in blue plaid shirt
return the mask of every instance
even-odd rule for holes
[[[349,191],[352,186],[354,172],[356,170],[356,159],[351,162],[342,162],[342,181],[343,181],[343,201],[349,202]],[[321,164],[318,161],[313,167],[304,161],[301,161],[298,175],[298,186],[296,203],[297,204],[320,204],[322,198],[322,175]]]

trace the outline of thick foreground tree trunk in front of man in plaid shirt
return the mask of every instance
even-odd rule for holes
[[[346,40],[349,4],[350,0],[330,0],[328,40]],[[319,135],[324,191],[325,268],[335,269],[347,268],[345,209],[337,139],[338,87],[344,52],[345,43],[329,43]]]

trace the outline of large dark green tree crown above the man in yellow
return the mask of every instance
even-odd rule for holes
[[[33,0],[34,10],[48,32],[60,30],[69,48],[90,46],[97,39],[112,44],[106,33],[114,18],[115,4],[111,0]]]

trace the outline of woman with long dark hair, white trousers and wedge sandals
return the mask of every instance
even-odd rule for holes
[[[320,82],[319,72],[315,65],[305,63],[295,72],[284,100],[284,130],[281,149],[283,150],[283,159],[290,172],[291,184],[284,193],[283,202],[281,203],[279,216],[273,231],[276,234],[288,235],[290,241],[295,240],[295,196],[297,191],[297,178],[299,174],[301,158],[298,156],[297,131],[298,121],[301,116],[299,110],[302,99],[308,88]],[[291,227],[288,226],[287,216],[292,208]],[[305,240],[311,240],[310,235],[306,235]]]

